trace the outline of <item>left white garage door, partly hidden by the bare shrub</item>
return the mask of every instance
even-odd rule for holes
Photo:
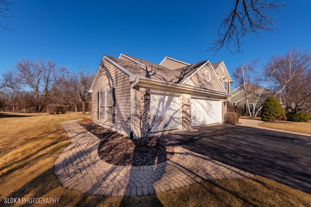
[[[181,127],[182,113],[180,96],[151,94],[150,112],[151,114],[166,115],[168,126],[163,130]]]

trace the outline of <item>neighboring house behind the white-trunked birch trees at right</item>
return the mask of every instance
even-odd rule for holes
[[[266,101],[266,99],[269,96],[274,96],[276,94],[273,91],[270,91],[267,89],[262,89],[262,87],[255,85],[255,84],[252,84],[252,83],[248,83],[248,82],[245,83],[245,89],[246,89],[245,90],[246,95],[245,95],[245,92],[244,92],[242,86],[238,87],[237,89],[235,89],[231,92],[231,94],[232,94],[231,102],[235,107],[240,109],[240,111],[242,112],[242,115],[249,115],[249,112],[248,112],[247,107],[246,107],[245,96],[247,97],[249,109],[252,113],[254,109],[256,111],[258,111],[258,109],[262,106],[262,104]],[[261,92],[261,94],[260,94],[260,92]],[[260,94],[260,96],[259,96],[259,94]],[[256,103],[257,98],[258,98],[258,101]],[[282,103],[279,96],[276,96],[276,99],[280,103]],[[256,105],[255,105],[255,103],[256,103]],[[258,116],[260,116],[260,112],[261,112],[261,110],[258,112]]]

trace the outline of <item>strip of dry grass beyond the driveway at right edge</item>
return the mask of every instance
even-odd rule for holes
[[[311,134],[310,120],[309,122],[289,122],[289,121],[262,122],[259,123],[259,126]]]

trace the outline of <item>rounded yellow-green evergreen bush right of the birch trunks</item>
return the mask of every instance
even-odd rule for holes
[[[286,120],[285,110],[278,100],[271,96],[263,103],[262,121]]]

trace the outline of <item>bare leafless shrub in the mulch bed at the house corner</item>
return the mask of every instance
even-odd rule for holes
[[[167,127],[165,115],[135,114],[123,121],[125,130],[133,135],[133,140],[138,146],[147,145],[155,135]]]

